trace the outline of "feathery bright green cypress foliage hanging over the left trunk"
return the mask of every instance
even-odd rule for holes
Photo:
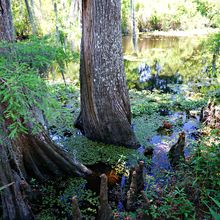
[[[27,132],[26,123],[32,124],[36,132],[40,128],[38,111],[49,119],[54,116],[51,109],[59,105],[41,77],[52,65],[64,65],[78,58],[50,39],[1,44],[0,48],[0,99],[5,105],[4,118],[11,121],[9,137]]]

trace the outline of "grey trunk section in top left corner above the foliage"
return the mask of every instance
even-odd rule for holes
[[[1,40],[14,40],[10,0],[0,0],[0,41]]]

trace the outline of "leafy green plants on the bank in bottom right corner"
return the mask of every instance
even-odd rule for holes
[[[181,201],[185,200],[184,205],[188,206],[191,203],[195,207],[194,211],[191,210],[197,214],[192,219],[197,219],[199,210],[204,213],[204,219],[210,219],[211,215],[217,214],[219,210],[218,204],[215,202],[220,199],[218,169],[220,138],[218,133],[218,130],[211,130],[208,136],[200,139],[200,142],[195,146],[194,156],[175,174],[175,186],[184,191],[186,195],[186,199],[182,198]],[[166,198],[166,195],[164,196]],[[175,210],[176,212],[178,211]]]

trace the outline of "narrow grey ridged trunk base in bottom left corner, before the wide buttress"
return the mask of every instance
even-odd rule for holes
[[[0,145],[0,185],[15,182],[15,184],[1,191],[3,219],[31,220],[34,219],[34,216],[22,189],[22,182],[24,180],[22,175],[19,174],[20,170],[14,164],[13,157],[15,157],[15,154],[11,154],[10,148],[12,148],[11,145]]]

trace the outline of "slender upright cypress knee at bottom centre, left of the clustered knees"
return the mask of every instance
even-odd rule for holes
[[[101,176],[100,184],[100,207],[98,210],[98,220],[111,220],[113,213],[111,206],[108,204],[108,178],[105,174]]]

